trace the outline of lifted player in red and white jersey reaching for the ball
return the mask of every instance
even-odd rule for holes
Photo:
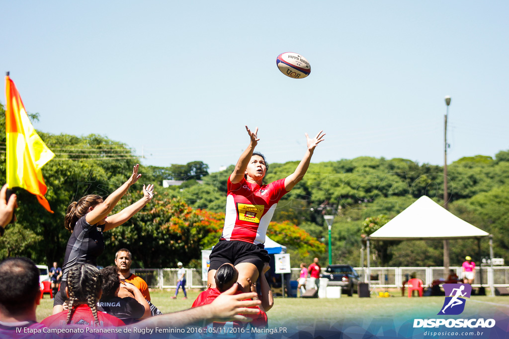
[[[264,185],[268,164],[261,153],[253,152],[260,140],[258,127],[254,133],[247,126],[246,130],[251,140],[228,178],[224,228],[210,254],[208,284],[215,287],[216,270],[224,263],[231,263],[239,271],[238,283],[244,292],[249,292],[248,279],[256,282],[264,263],[270,260],[263,243],[277,202],[302,179],[315,147],[324,140],[325,134],[320,131],[309,138],[306,133],[307,150],[295,172]]]

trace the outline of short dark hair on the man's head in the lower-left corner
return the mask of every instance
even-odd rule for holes
[[[40,298],[39,268],[29,258],[7,258],[0,263],[0,310],[18,315]]]

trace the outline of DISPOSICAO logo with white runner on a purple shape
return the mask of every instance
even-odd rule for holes
[[[456,316],[465,310],[465,301],[470,298],[472,293],[472,286],[469,284],[444,284],[445,301],[438,312],[439,316]],[[458,327],[458,328],[490,328],[495,326],[493,319],[414,319],[413,327],[438,327],[445,325],[445,327]]]

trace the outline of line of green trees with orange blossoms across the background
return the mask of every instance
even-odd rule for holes
[[[32,120],[38,119],[37,114],[29,115]],[[2,104],[0,124],[5,126]],[[132,166],[140,159],[127,145],[104,136],[38,133],[55,153],[55,158],[43,168],[46,198],[54,214],[45,211],[35,196],[16,189],[17,222],[7,226],[5,236],[0,238],[0,259],[27,256],[40,264],[61,264],[70,236],[63,225],[67,206],[87,194],[106,197],[127,180]],[[3,178],[5,142],[2,128]],[[271,163],[265,182],[289,175],[297,164]],[[126,224],[104,233],[106,250],[98,264],[112,264],[115,252],[125,247],[133,253],[133,267],[175,267],[178,261],[187,267],[199,267],[200,251],[214,245],[221,234],[227,179],[233,168],[234,165],[209,173],[201,161],[168,167],[140,166],[142,178],[114,213],[140,199],[144,183],[153,183],[157,195]],[[447,169],[449,210],[493,234],[495,257],[507,260],[509,151],[500,151],[495,159],[462,158]],[[164,179],[184,183],[163,188]],[[278,203],[268,235],[287,246],[293,266],[309,264],[315,256],[325,263],[328,230],[323,215],[334,214],[332,261],[357,266],[362,234],[372,233],[422,195],[443,204],[443,180],[443,167],[406,159],[359,157],[310,164],[304,179]],[[449,243],[451,265],[461,265],[466,255],[477,258],[476,240]],[[488,256],[488,241],[481,244],[483,256]],[[374,241],[372,265],[441,266],[442,249],[442,241]]]

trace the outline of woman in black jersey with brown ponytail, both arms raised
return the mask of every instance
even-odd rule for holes
[[[122,225],[152,200],[154,185],[147,187],[144,185],[142,199],[120,212],[108,216],[131,185],[142,176],[138,174],[138,166],[138,164],[134,166],[129,179],[105,200],[98,195],[91,194],[67,207],[64,226],[72,234],[67,242],[60,291],[53,299],[53,314],[64,310],[65,287],[69,270],[78,264],[87,263],[96,266],[97,257],[104,251],[103,232]]]

